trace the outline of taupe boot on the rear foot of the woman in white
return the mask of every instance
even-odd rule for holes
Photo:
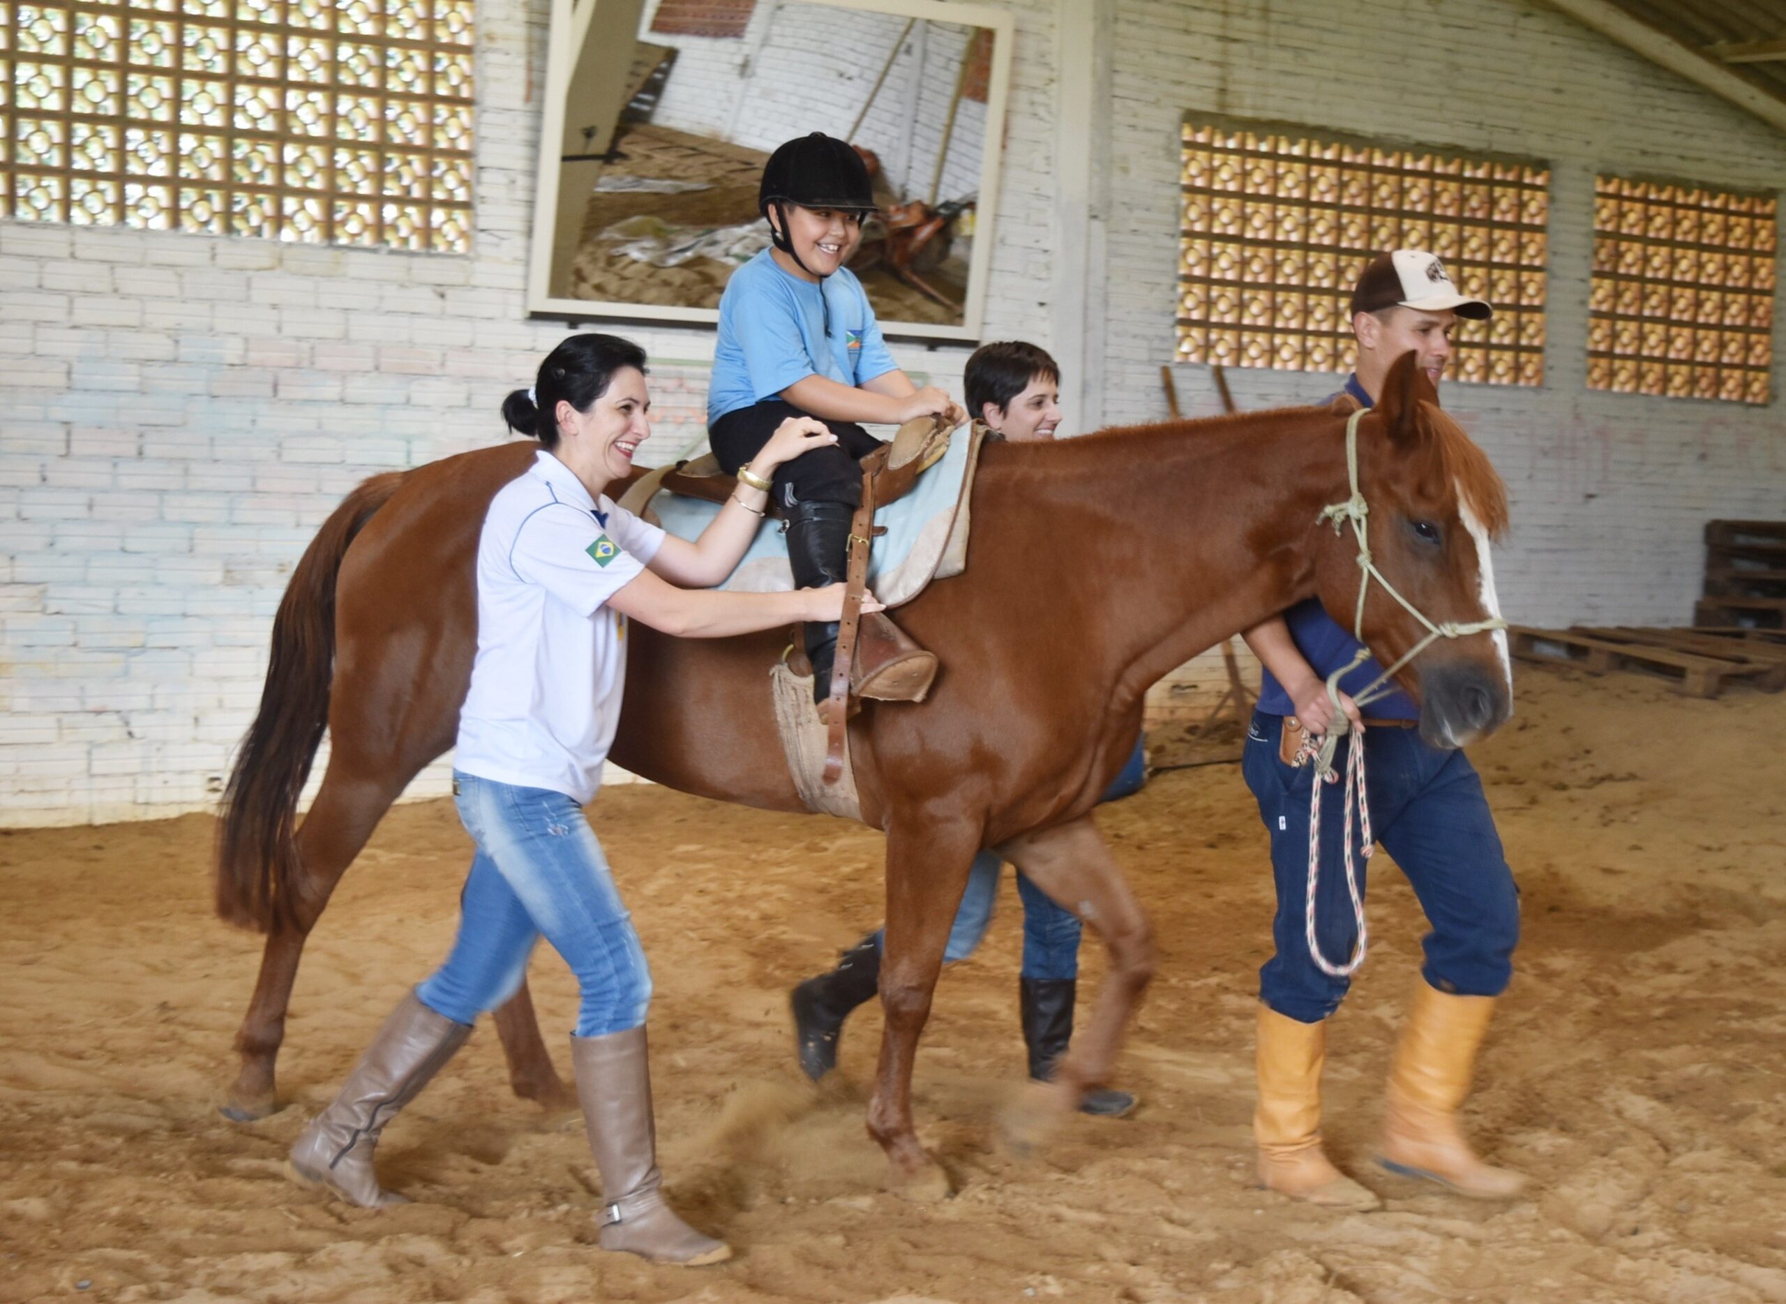
[[[414,991],[404,997],[346,1075],[334,1104],[316,1115],[291,1147],[293,1172],[368,1209],[407,1204],[407,1197],[379,1186],[371,1165],[379,1133],[468,1036],[470,1025],[436,1015]]]

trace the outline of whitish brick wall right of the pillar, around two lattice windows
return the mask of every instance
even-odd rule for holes
[[[1779,189],[1786,136],[1522,0],[1116,0],[1113,64],[1107,423],[1166,414],[1182,114],[1270,118],[1552,164],[1545,384],[1445,388],[1511,493],[1513,534],[1495,563],[1511,620],[1688,623],[1704,522],[1782,516],[1779,302],[1766,407],[1590,391],[1586,332],[1597,171]],[[1207,368],[1175,375],[1186,414],[1220,411]],[[1227,379],[1245,409],[1338,388],[1297,372]],[[1206,691],[1225,684],[1214,656],[1188,677]]]

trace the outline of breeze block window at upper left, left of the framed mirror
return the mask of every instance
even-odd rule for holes
[[[475,0],[0,0],[0,218],[472,241]]]

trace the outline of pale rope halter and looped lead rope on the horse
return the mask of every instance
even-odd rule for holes
[[[1486,634],[1507,627],[1507,622],[1500,616],[1475,620],[1466,625],[1448,620],[1434,625],[1413,602],[1397,593],[1395,586],[1384,579],[1381,570],[1377,570],[1377,563],[1370,556],[1370,504],[1365,502],[1365,495],[1357,488],[1357,423],[1365,420],[1365,413],[1368,411],[1368,407],[1359,407],[1352,413],[1352,418],[1345,425],[1345,472],[1352,488],[1352,497],[1345,502],[1323,507],[1322,514],[1316,518],[1316,522],[1331,522],[1334,534],[1343,532],[1345,525],[1350,522],[1352,534],[1357,536],[1357,566],[1363,575],[1357,586],[1357,611],[1352,616],[1352,638],[1357,641],[1359,648],[1350,663],[1327,675],[1327,700],[1332,702],[1334,720],[1327,729],[1327,734],[1320,740],[1320,743],[1316,743],[1313,736],[1304,736],[1302,747],[1297,752],[1298,766],[1306,763],[1314,765],[1314,781],[1309,786],[1309,886],[1302,924],[1304,936],[1309,943],[1309,956],[1314,959],[1316,968],[1329,977],[1350,977],[1356,974],[1357,966],[1365,963],[1365,952],[1370,949],[1370,931],[1365,925],[1365,895],[1357,888],[1357,866],[1352,859],[1354,809],[1357,813],[1359,841],[1363,843],[1359,856],[1365,861],[1370,861],[1370,854],[1375,850],[1375,840],[1370,836],[1370,797],[1365,788],[1365,741],[1361,738],[1354,740],[1352,747],[1347,748],[1345,793],[1341,798],[1341,809],[1345,813],[1345,888],[1347,895],[1352,897],[1352,920],[1357,924],[1357,943],[1352,949],[1352,957],[1345,965],[1334,965],[1322,954],[1320,945],[1314,941],[1314,888],[1320,884],[1322,877],[1322,784],[1338,782],[1340,775],[1334,773],[1332,765],[1334,750],[1340,747],[1340,740],[1352,732],[1352,722],[1340,706],[1340,681],[1370,659],[1370,650],[1365,647],[1365,595],[1370,591],[1370,581],[1375,579],[1391,598],[1400,602],[1415,620],[1425,625],[1427,636],[1415,643],[1415,647],[1409,648],[1393,666],[1370,681],[1352,698],[1357,707],[1370,706],[1372,702],[1393,693],[1395,690],[1390,688],[1390,679],[1395,672],[1425,652],[1434,639],[1468,638],[1470,634]]]

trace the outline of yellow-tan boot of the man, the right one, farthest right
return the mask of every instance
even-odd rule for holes
[[[1402,1177],[1425,1177],[1479,1200],[1520,1193],[1525,1177],[1475,1158],[1457,1127],[1477,1047],[1495,1013],[1493,997],[1452,997],[1423,979],[1390,1072],[1390,1111],[1377,1163]]]

